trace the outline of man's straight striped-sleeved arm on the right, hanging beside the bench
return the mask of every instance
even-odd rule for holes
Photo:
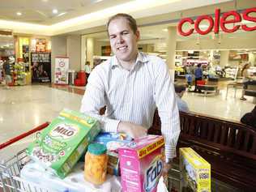
[[[155,100],[161,120],[161,132],[165,141],[165,156],[169,162],[176,156],[177,139],[180,134],[180,117],[168,66],[162,62],[156,72]]]

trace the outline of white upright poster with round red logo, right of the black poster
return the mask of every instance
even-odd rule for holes
[[[54,83],[68,84],[69,58],[55,58]]]

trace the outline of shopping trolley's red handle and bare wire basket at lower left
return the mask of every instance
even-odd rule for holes
[[[38,131],[43,130],[45,127],[49,126],[49,122],[45,122],[41,126],[29,130],[26,133],[20,134],[19,136],[7,141],[6,143],[0,144],[0,150],[5,147],[11,146],[12,143],[18,142],[24,139],[28,135],[38,133]],[[29,181],[24,181],[20,177],[20,170],[25,164],[30,161],[30,158],[26,154],[26,150],[23,149],[19,151],[15,156],[12,156],[8,160],[1,160],[0,162],[0,192],[25,192],[25,191],[50,191],[49,189],[42,189],[41,186],[36,186],[36,184]]]

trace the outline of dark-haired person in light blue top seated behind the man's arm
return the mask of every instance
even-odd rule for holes
[[[186,87],[184,85],[174,85],[175,92],[176,92],[176,101],[177,101],[177,108],[181,112],[188,113],[190,111],[187,103],[185,100],[182,100],[182,96],[186,92]]]

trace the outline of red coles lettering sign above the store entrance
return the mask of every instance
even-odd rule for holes
[[[256,17],[250,16],[250,13],[256,13],[256,7],[246,9],[245,11],[243,11],[242,18],[244,20],[256,23]],[[229,16],[233,16],[233,18],[228,19]],[[203,20],[207,20],[207,22],[209,23],[209,26],[205,30],[202,30],[201,28],[199,28],[199,24]],[[220,17],[220,9],[216,9],[214,19],[211,17],[211,15],[199,16],[197,19],[195,19],[195,21],[191,18],[181,19],[180,23],[177,26],[177,30],[181,34],[181,36],[190,36],[194,32],[194,30],[201,35],[208,34],[209,32],[212,31],[212,29],[214,30],[215,33],[218,33],[220,31],[220,28],[223,32],[236,32],[240,27],[246,32],[256,30],[256,26],[249,27],[246,24],[235,25],[235,23],[240,23],[240,22],[241,22],[241,15],[237,11],[225,12]],[[194,25],[194,28],[190,28],[190,30],[184,32],[182,30],[182,26],[184,23],[190,23],[190,24]],[[226,24],[228,24],[228,23],[233,23],[233,27],[227,28]]]

